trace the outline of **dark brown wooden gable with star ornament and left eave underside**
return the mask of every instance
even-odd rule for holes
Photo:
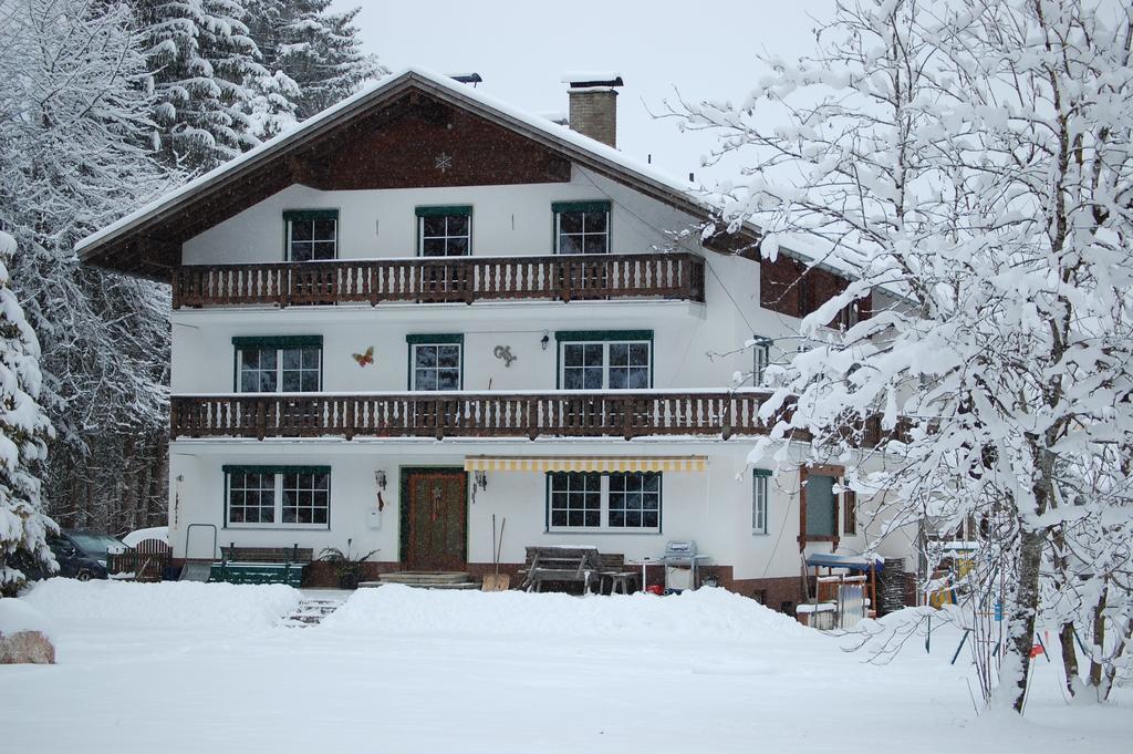
[[[564,154],[410,87],[220,177],[84,261],[168,280],[181,263],[181,244],[293,184],[323,190],[495,186],[569,181],[570,169]]]

